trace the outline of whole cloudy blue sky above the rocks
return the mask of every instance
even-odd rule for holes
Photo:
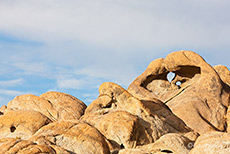
[[[230,66],[229,0],[0,0],[0,106],[23,94],[89,105],[157,58],[192,50]]]

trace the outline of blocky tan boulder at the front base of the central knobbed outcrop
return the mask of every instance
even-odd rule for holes
[[[95,126],[112,144],[112,149],[134,148],[150,143],[152,138],[142,127],[142,119],[126,111],[87,114],[82,121]]]

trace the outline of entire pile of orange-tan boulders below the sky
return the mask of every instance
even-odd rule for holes
[[[228,154],[230,72],[192,51],[152,61],[124,89],[103,83],[89,106],[69,94],[0,108],[0,154]]]

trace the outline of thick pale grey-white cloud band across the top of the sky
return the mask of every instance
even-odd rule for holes
[[[0,4],[1,30],[49,43],[74,40],[118,49],[179,42],[206,46],[224,43],[229,36],[230,11],[226,10],[230,2],[224,0],[17,0]],[[220,36],[223,41],[217,42]]]

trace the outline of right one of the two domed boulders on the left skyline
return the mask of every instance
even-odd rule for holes
[[[59,121],[79,119],[87,107],[76,97],[61,92],[47,92],[40,97],[52,103],[57,111],[56,119]]]

